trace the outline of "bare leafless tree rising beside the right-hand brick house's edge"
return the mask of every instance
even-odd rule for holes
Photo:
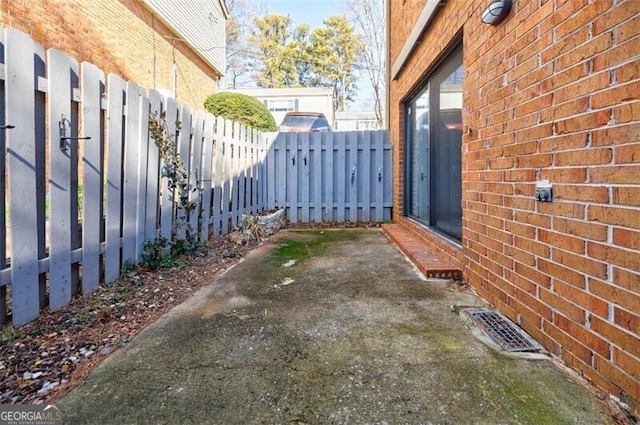
[[[349,18],[365,45],[359,67],[371,83],[376,120],[382,127],[386,68],[384,0],[344,0],[344,3]]]

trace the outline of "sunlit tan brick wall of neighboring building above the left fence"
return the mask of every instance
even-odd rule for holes
[[[202,107],[217,73],[138,0],[2,0],[3,27],[24,31],[45,49],[61,50],[143,87],[172,91]]]

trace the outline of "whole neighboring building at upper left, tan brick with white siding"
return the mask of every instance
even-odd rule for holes
[[[227,18],[223,0],[0,3],[3,27],[198,108],[224,76]]]

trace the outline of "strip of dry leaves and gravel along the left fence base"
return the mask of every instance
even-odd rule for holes
[[[61,310],[0,333],[0,403],[52,402],[113,351],[255,248],[212,240],[181,267],[134,270]]]

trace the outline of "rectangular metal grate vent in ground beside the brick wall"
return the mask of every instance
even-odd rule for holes
[[[506,351],[540,351],[542,347],[503,314],[488,309],[466,310],[471,320]]]

